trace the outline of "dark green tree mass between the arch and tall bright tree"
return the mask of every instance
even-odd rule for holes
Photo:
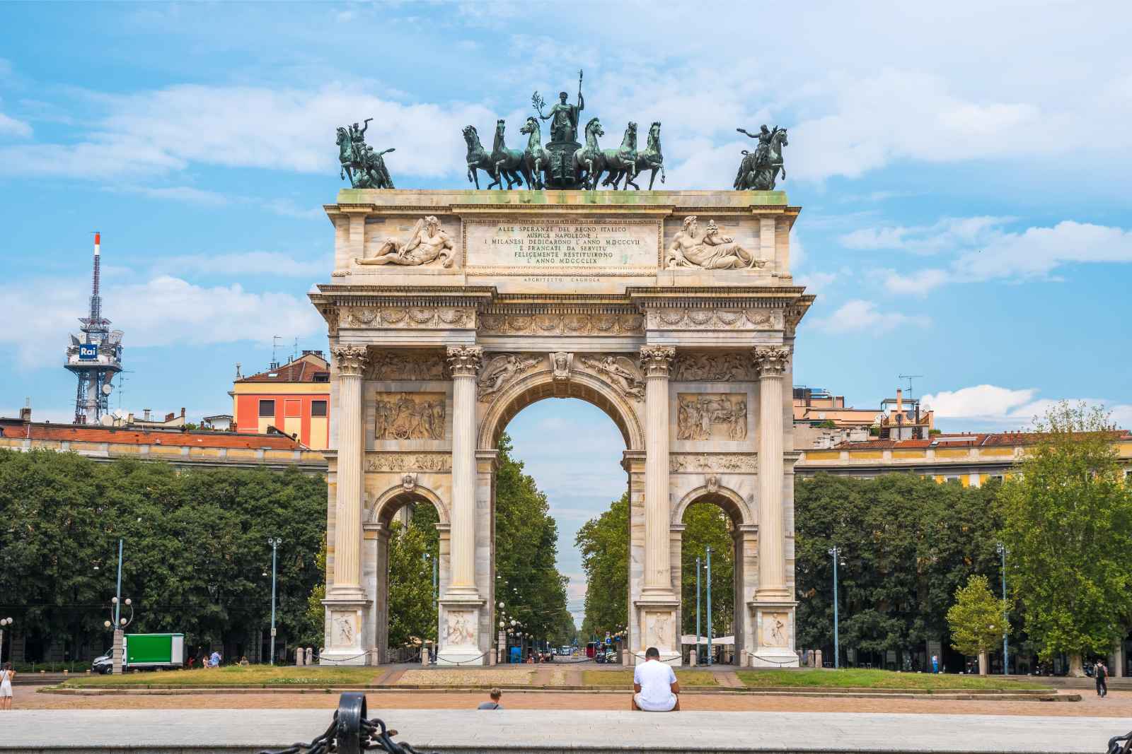
[[[962,487],[910,474],[875,479],[820,474],[795,487],[798,645],[832,649],[833,567],[840,643],[909,658],[946,640],[946,610],[972,573],[997,572],[997,485]],[[883,655],[882,655],[883,657]],[[908,661],[903,664],[908,666]]]

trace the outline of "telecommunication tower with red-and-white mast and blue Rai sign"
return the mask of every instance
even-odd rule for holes
[[[67,346],[67,371],[78,378],[75,392],[75,424],[98,423],[110,413],[111,380],[122,371],[122,331],[111,330],[110,320],[102,317],[98,295],[98,267],[102,234],[94,234],[94,278],[91,286],[91,311],[79,318],[83,327],[70,336]]]

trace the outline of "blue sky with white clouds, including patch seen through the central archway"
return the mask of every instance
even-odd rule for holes
[[[465,187],[460,129],[517,129],[584,68],[603,122],[663,123],[666,188],[729,188],[735,128],[789,127],[820,296],[797,382],[876,406],[923,374],[946,430],[1060,398],[1132,426],[1129,28],[1116,1],[2,5],[0,415],[71,414],[96,228],[132,371],[112,405],[230,410],[272,336],[325,346],[305,294],[331,268],[335,125],[374,116],[398,187]],[[573,531],[624,488],[616,430],[547,401],[512,432],[576,573]]]

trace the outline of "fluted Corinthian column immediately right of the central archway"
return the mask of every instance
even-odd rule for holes
[[[644,595],[671,593],[668,505],[668,367],[670,346],[643,346],[645,375]]]

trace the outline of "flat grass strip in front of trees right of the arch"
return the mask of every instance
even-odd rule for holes
[[[798,686],[824,688],[918,688],[918,690],[1020,690],[1048,688],[1049,686],[1029,681],[1007,681],[994,676],[968,676],[931,673],[893,673],[892,670],[866,670],[843,668],[840,670],[739,670],[745,685],[752,687]]]

